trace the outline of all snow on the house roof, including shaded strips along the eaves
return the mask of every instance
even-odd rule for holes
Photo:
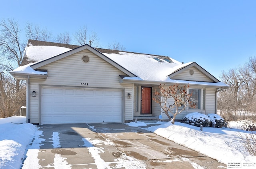
[[[31,40],[30,40],[31,41]],[[39,44],[36,44],[38,42]],[[50,46],[51,42],[40,42],[36,41],[28,44],[25,50],[26,57],[30,62],[40,62],[42,60],[46,60],[48,58],[52,58],[54,56],[58,56],[65,52],[68,52],[74,48],[74,46],[66,45],[58,46],[61,44],[54,44]],[[41,45],[40,45],[41,43]],[[42,44],[44,43],[44,44]],[[96,48],[97,49],[97,48]],[[104,52],[103,52],[104,51]],[[124,78],[126,80],[142,80],[142,81],[155,81],[155,82],[166,82],[166,83],[180,83],[180,84],[197,84],[197,85],[214,85],[214,86],[223,86],[227,87],[228,85],[218,82],[218,83],[209,83],[209,82],[192,82],[186,80],[172,80],[168,76],[181,68],[184,68],[192,62],[188,62],[183,64],[174,60],[173,58],[167,56],[154,56],[149,54],[139,54],[132,52],[118,52],[111,50],[103,50],[102,54],[106,57],[110,58],[132,74],[137,77],[133,78]],[[106,53],[110,51],[109,53]],[[113,53],[112,53],[113,52]],[[157,59],[156,59],[157,58]],[[167,59],[167,60],[166,60]],[[168,62],[170,60],[171,62]],[[35,64],[35,63],[33,63]],[[32,64],[28,64],[25,66],[21,66],[14,71],[13,73],[24,73],[24,74],[47,74],[47,72],[40,72],[33,70],[30,66]]]

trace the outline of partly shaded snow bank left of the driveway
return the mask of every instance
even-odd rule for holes
[[[26,117],[13,116],[0,119],[0,168],[18,169],[32,141],[36,127],[26,123]]]

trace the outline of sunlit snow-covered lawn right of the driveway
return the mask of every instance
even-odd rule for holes
[[[251,156],[240,143],[241,139],[238,136],[239,134],[244,136],[250,131],[213,127],[204,127],[203,131],[200,131],[200,127],[185,123],[175,122],[175,125],[171,122],[162,123],[143,129],[216,159],[220,163],[256,161],[256,157]],[[129,124],[136,126],[135,122]]]

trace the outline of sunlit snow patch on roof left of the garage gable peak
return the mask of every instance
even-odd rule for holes
[[[59,46],[33,46],[32,44],[29,44],[29,46],[26,47],[25,54],[29,61],[37,62],[52,58],[53,56],[57,56],[70,50],[72,49]]]

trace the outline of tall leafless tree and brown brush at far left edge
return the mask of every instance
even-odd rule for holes
[[[25,43],[20,41],[20,27],[14,19],[2,19],[0,28],[0,117],[8,117],[17,113],[26,100],[22,82],[8,74],[21,65]]]

